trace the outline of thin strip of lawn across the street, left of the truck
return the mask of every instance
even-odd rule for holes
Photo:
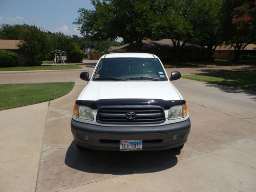
[[[32,70],[65,70],[65,69],[82,69],[77,65],[66,66],[33,66],[33,67],[11,67],[0,68],[0,71],[32,71]]]

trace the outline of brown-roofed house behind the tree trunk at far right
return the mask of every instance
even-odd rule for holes
[[[242,50],[242,54],[245,55],[256,55],[256,45],[249,44],[247,45],[244,50]],[[212,57],[215,57],[216,59],[234,59],[234,48],[232,46],[225,46],[221,45],[218,46],[212,55]]]

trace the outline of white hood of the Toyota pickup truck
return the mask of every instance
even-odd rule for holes
[[[183,99],[169,81],[90,81],[78,100]]]

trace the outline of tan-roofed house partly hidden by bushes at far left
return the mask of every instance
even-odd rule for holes
[[[31,55],[20,50],[17,46],[20,40],[0,39],[0,50],[13,51],[17,53],[19,59],[19,65],[26,65],[28,62],[33,62]]]

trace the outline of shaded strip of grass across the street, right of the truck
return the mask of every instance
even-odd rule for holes
[[[165,68],[179,68],[179,67],[206,67],[206,66],[241,66],[241,65],[256,65],[256,60],[221,60],[216,59],[215,61],[181,61],[181,62],[163,62]]]

